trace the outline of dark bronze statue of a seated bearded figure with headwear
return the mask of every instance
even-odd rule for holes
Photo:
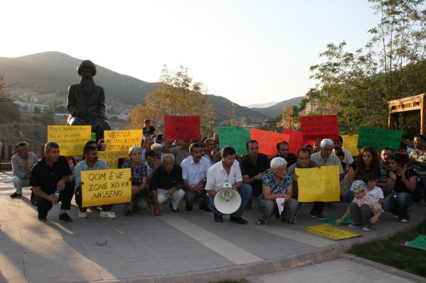
[[[104,131],[111,129],[105,115],[105,91],[93,80],[96,66],[90,60],[81,62],[77,72],[80,83],[70,85],[68,89],[68,125],[90,125],[100,140],[104,138]]]

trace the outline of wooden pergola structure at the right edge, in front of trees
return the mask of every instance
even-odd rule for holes
[[[425,134],[425,111],[426,111],[426,94],[419,94],[416,96],[405,97],[403,99],[394,99],[388,101],[388,127],[391,129],[397,128],[396,121],[400,114],[408,115],[414,111],[420,110],[420,132]]]

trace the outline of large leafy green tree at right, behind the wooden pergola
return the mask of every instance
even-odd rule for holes
[[[359,126],[386,127],[392,99],[422,94],[426,89],[426,11],[424,0],[370,0],[380,21],[371,40],[355,52],[346,43],[329,43],[311,66],[319,84],[309,100],[339,106],[339,125],[356,133]],[[405,129],[408,123],[400,123]]]

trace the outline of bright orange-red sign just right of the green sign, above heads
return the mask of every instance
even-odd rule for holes
[[[289,140],[290,136],[284,133],[275,133],[270,131],[257,130],[255,128],[250,129],[250,139],[257,140],[259,144],[259,152],[269,157],[272,157],[278,153],[277,143],[283,140]]]

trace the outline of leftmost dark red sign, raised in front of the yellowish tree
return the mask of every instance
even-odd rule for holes
[[[164,135],[165,140],[198,140],[200,116],[164,116]]]

